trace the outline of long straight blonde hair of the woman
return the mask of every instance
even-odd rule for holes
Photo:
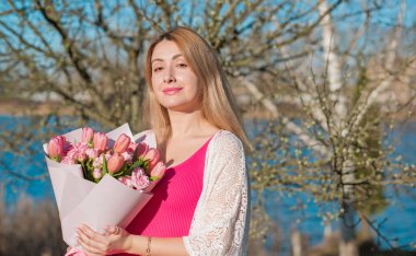
[[[160,35],[149,47],[146,56],[146,80],[148,84],[145,113],[158,141],[164,142],[171,135],[167,109],[155,98],[151,79],[151,58],[155,46],[162,40],[172,40],[182,50],[201,86],[201,108],[205,118],[212,125],[233,132],[246,147],[250,141],[238,114],[227,75],[212,47],[196,32],[177,26]]]

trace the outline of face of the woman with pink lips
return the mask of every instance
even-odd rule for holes
[[[169,110],[193,112],[200,106],[198,78],[176,43],[162,40],[152,54],[152,86],[158,102]]]

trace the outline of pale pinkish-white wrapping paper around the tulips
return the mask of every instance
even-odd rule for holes
[[[145,132],[132,137],[128,124],[107,132],[108,147],[120,133],[126,133],[132,141],[148,143],[155,148],[152,135]],[[81,140],[82,128],[63,135],[69,142]],[[61,164],[50,160],[47,154],[47,143],[44,144],[46,163],[58,206],[63,241],[71,247],[79,247],[76,229],[82,223],[97,232],[106,225],[126,228],[136,214],[151,199],[149,191],[153,182],[145,191],[127,187],[109,175],[105,175],[99,184],[86,181],[82,176],[79,164]]]

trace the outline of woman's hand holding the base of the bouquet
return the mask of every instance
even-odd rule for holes
[[[109,255],[126,252],[131,244],[130,234],[119,226],[107,226],[100,234],[88,225],[77,229],[78,242],[88,255]]]

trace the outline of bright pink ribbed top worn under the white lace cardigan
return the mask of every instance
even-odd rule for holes
[[[190,158],[166,170],[152,190],[152,199],[127,226],[129,233],[153,237],[188,235],[203,191],[205,156],[211,138]]]

